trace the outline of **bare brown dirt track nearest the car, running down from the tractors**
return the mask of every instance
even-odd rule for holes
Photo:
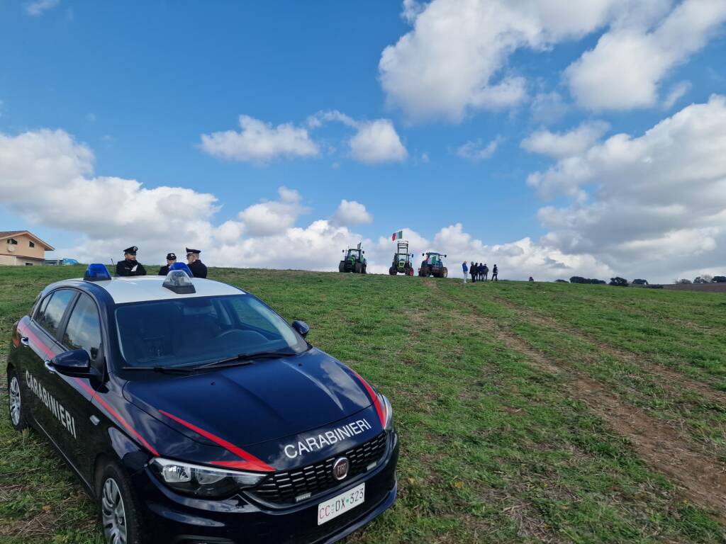
[[[654,471],[666,474],[684,498],[711,509],[720,522],[726,523],[726,463],[714,458],[673,426],[625,403],[607,385],[534,350],[502,323],[481,313],[475,305],[450,297],[434,282],[430,283],[430,287],[449,300],[465,304],[470,313],[463,317],[496,334],[499,341],[525,355],[533,366],[569,379],[572,397],[589,406],[614,432],[626,437],[638,456]],[[559,323],[558,327],[561,329]],[[657,374],[653,367],[649,369]],[[671,374],[690,383],[685,376],[673,371],[668,371],[664,379],[671,379]],[[697,385],[703,387],[703,384]]]

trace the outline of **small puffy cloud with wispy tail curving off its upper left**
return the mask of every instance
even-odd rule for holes
[[[408,157],[408,151],[401,143],[401,138],[390,119],[360,121],[338,110],[329,110],[312,115],[307,124],[311,128],[319,128],[323,123],[330,121],[337,121],[356,129],[354,136],[348,140],[353,160],[378,165],[384,162],[402,162]]]

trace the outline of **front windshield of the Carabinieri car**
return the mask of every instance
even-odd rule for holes
[[[240,354],[301,353],[307,342],[248,294],[119,305],[125,366],[196,366]]]

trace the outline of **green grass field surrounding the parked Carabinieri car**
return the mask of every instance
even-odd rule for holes
[[[46,284],[0,268],[0,350]],[[388,395],[399,500],[348,543],[726,542],[726,296],[212,268]],[[7,339],[7,340],[5,340]],[[2,379],[0,401],[7,405]],[[0,543],[100,543],[91,500],[0,419]],[[271,543],[274,544],[274,543]]]

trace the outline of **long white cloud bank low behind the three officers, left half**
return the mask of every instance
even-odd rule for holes
[[[78,234],[77,243],[58,254],[85,262],[120,259],[121,250],[135,244],[144,263],[190,246],[202,249],[210,265],[333,270],[340,247],[361,239],[325,220],[295,226],[308,210],[301,195],[285,187],[277,199],[216,224],[213,194],[96,176],[91,149],[60,130],[0,133],[0,189],[3,205],[28,223]]]

